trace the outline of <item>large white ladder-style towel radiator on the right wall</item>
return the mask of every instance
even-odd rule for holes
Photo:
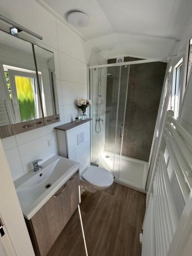
[[[191,188],[192,137],[169,112],[143,222],[142,256],[172,255],[169,251]]]

